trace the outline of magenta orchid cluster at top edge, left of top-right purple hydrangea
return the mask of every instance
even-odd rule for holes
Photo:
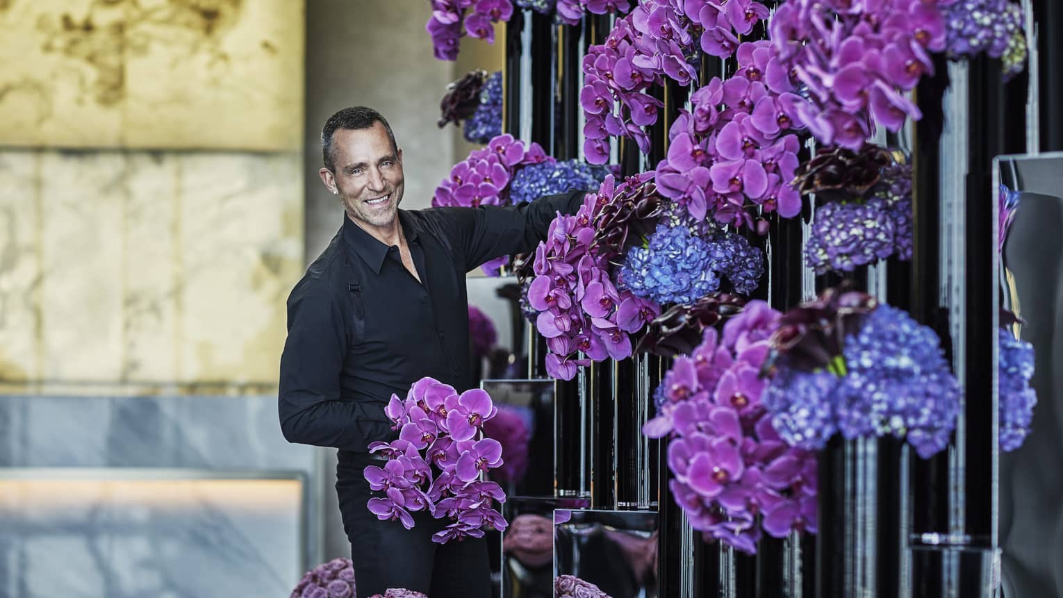
[[[875,124],[922,117],[905,97],[933,74],[956,0],[788,0],[770,23],[780,67],[807,101],[796,116],[817,141],[859,150]]]

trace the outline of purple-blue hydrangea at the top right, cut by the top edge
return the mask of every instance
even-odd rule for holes
[[[944,2],[939,2],[944,4]],[[957,61],[985,52],[1003,59],[1007,81],[1026,63],[1023,8],[1009,0],[960,0],[945,7],[948,57]]]

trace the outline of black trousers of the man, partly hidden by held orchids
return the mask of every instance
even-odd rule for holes
[[[351,541],[354,584],[358,598],[389,587],[422,592],[428,598],[491,598],[491,570],[484,539],[432,542],[432,534],[450,523],[426,512],[414,513],[414,529],[382,522],[366,507],[372,492],[362,477],[366,465],[381,462],[340,452],[336,492],[343,530]]]

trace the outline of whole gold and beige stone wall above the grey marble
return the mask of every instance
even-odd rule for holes
[[[0,2],[0,392],[276,385],[299,0]]]

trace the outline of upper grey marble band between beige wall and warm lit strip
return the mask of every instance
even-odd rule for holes
[[[275,396],[0,396],[0,466],[310,471]]]

